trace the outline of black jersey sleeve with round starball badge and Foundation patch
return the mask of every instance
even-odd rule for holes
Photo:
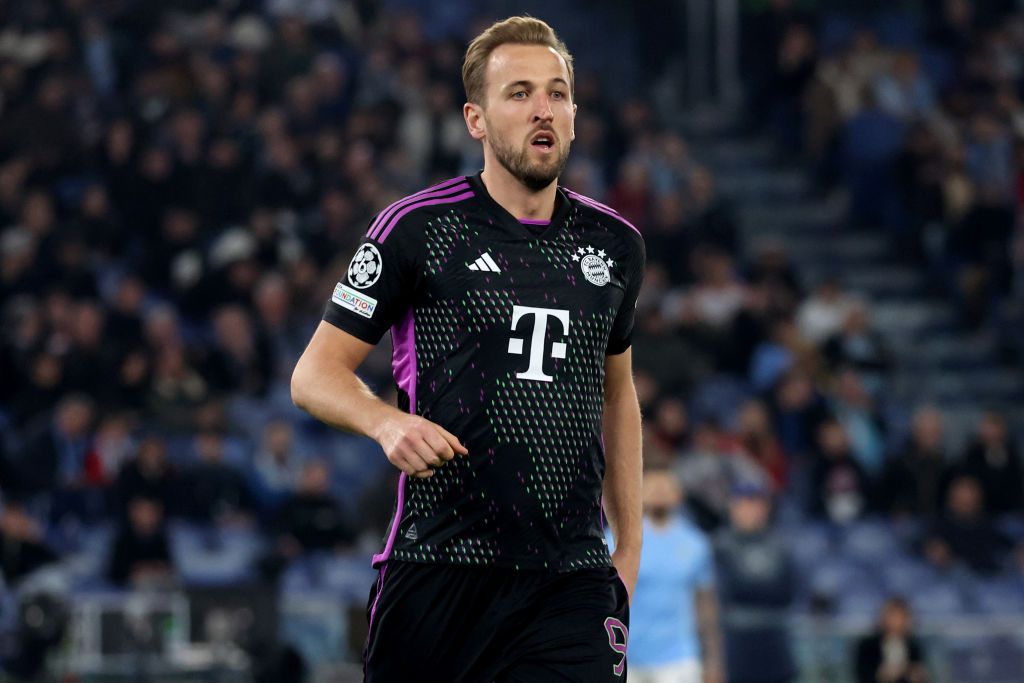
[[[407,224],[380,241],[364,237],[334,287],[324,319],[368,344],[379,342],[413,305],[422,237],[422,230]]]

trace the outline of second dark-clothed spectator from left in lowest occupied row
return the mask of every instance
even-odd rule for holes
[[[174,575],[173,566],[163,503],[132,498],[111,550],[111,582],[123,587],[166,585]]]

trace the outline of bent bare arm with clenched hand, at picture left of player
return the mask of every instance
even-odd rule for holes
[[[388,405],[355,375],[373,348],[330,323],[321,322],[292,373],[292,400],[317,420],[369,436],[392,465],[410,476],[429,477],[433,469],[466,455],[459,439],[442,427]]]

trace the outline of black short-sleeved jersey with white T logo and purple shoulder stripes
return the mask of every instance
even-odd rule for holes
[[[324,317],[369,343],[390,329],[402,407],[469,451],[399,477],[375,564],[610,565],[604,360],[630,346],[643,266],[635,227],[561,187],[546,226],[518,221],[479,175],[374,218]]]

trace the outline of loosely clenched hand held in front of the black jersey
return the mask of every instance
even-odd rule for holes
[[[420,479],[433,476],[434,469],[469,451],[459,437],[440,425],[417,415],[402,415],[382,425],[377,442],[384,449],[388,462],[399,470]]]

